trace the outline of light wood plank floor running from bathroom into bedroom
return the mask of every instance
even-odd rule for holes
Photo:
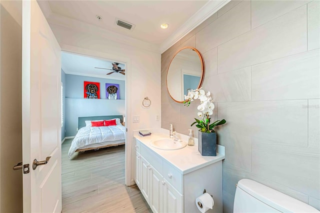
[[[62,212],[152,212],[136,185],[124,185],[124,145],[67,152],[62,144]]]

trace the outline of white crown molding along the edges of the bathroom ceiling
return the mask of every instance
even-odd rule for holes
[[[217,10],[219,10],[229,1],[230,0],[209,0],[196,13],[191,15],[177,30],[175,30],[160,45],[156,45],[136,38],[129,37],[127,35],[113,32],[93,24],[88,24],[83,21],[79,21],[73,18],[53,13],[47,0],[37,0],[49,24],[70,28],[79,32],[97,34],[99,36],[105,37],[108,40],[112,40],[134,48],[139,48],[156,53],[163,53],[170,46],[179,41],[183,36],[189,33],[196,26],[201,24],[204,20],[206,20],[208,17],[214,14]]]

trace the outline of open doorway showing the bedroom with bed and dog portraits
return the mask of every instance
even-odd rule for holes
[[[101,211],[115,193],[134,194],[125,186],[125,64],[62,51],[61,103],[63,212]]]

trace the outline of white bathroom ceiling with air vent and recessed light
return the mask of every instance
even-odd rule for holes
[[[117,37],[123,36],[123,40],[129,37],[155,45],[161,53],[228,1],[38,0],[38,4],[49,23],[76,27],[77,24],[71,23],[76,20],[116,33]],[[99,21],[96,15],[102,19]],[[117,26],[116,18],[135,24],[135,28]],[[169,27],[161,29],[161,23],[168,23]]]

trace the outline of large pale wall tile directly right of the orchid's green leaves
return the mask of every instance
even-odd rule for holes
[[[223,133],[247,134],[307,146],[307,100],[219,102]]]

